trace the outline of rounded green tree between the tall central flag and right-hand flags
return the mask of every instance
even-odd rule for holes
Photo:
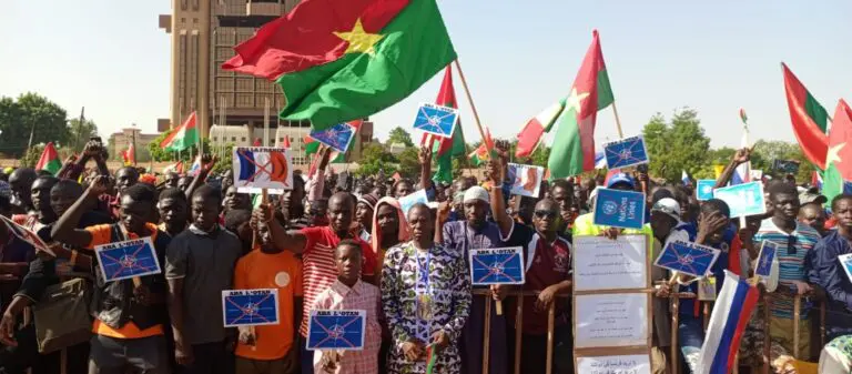
[[[683,170],[694,174],[708,164],[710,138],[704,135],[698,112],[692,109],[676,111],[670,122],[662,114],[655,114],[642,134],[651,175],[678,181]]]

